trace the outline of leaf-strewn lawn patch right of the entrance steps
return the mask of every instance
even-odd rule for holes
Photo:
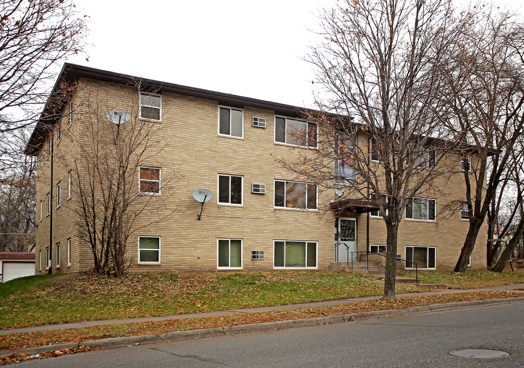
[[[399,271],[400,276],[415,278],[414,271]],[[465,273],[453,271],[423,270],[419,271],[419,280],[424,284],[444,284],[466,289],[479,287],[524,283],[524,273],[496,273],[488,270],[468,270]]]

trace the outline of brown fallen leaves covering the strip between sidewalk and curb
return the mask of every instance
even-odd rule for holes
[[[441,304],[455,301],[508,298],[521,295],[521,293],[511,293],[508,291],[481,291],[476,293],[439,294],[411,298],[377,299],[372,301],[354,302],[352,304],[329,307],[286,309],[258,313],[236,313],[234,315],[222,317],[191,318],[125,324],[108,324],[104,326],[83,327],[78,329],[63,329],[54,331],[10,334],[6,336],[0,336],[0,350],[9,351],[21,348],[38,347],[66,342],[81,342],[130,335],[155,334],[172,331],[185,331],[202,328],[235,326],[238,324],[247,323],[261,323],[322,316],[336,316],[372,310],[402,309],[415,306]],[[61,351],[59,352],[59,355],[64,353],[69,354],[72,352],[77,352],[77,349],[68,352]],[[49,356],[56,356],[51,353],[49,354]],[[27,358],[27,356],[17,356],[18,358],[13,357],[0,359],[0,365],[16,363],[16,359],[21,359],[19,361],[34,359]],[[38,359],[49,358],[49,356],[47,355],[47,353],[40,354]]]

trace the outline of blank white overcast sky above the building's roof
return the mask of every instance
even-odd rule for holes
[[[312,70],[302,58],[315,42],[319,7],[334,1],[75,0],[90,17],[91,45],[89,62],[68,61],[312,107]]]

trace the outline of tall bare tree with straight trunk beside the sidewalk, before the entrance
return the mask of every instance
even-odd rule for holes
[[[343,186],[346,203],[379,207],[387,228],[384,296],[394,298],[399,222],[408,204],[426,214],[434,207],[413,198],[438,190],[431,183],[447,171],[453,148],[440,129],[441,50],[460,27],[447,1],[348,0],[320,18],[324,42],[310,61],[327,97],[316,101],[320,114],[306,112],[318,125],[318,149],[279,162],[323,191]]]

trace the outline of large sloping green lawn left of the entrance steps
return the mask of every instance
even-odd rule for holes
[[[0,284],[0,329],[297,304],[384,291],[384,280],[332,270],[141,273],[121,279],[80,275],[57,282],[50,276]],[[415,289],[397,285],[398,293]]]

